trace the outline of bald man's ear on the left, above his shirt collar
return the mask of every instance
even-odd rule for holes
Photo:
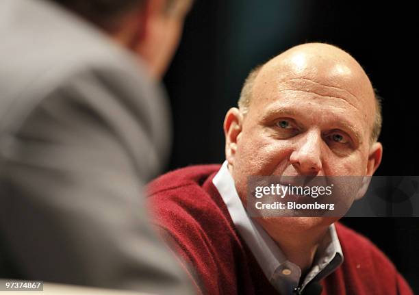
[[[232,165],[242,133],[243,114],[237,107],[231,107],[224,119],[225,158]]]

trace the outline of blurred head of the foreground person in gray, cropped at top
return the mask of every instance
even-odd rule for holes
[[[164,75],[177,49],[192,0],[51,0],[94,23]]]

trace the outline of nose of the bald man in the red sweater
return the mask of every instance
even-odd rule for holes
[[[321,147],[320,131],[307,131],[290,155],[292,166],[302,175],[316,175],[322,169]]]

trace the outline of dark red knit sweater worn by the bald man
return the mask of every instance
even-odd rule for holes
[[[212,184],[219,168],[190,166],[153,181],[149,201],[155,223],[189,265],[202,294],[278,294],[240,238]],[[336,231],[344,263],[320,281],[322,294],[413,294],[370,241],[339,223]]]

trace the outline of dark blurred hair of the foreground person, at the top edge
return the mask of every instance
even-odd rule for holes
[[[99,25],[113,29],[121,16],[141,7],[145,0],[50,0]]]

